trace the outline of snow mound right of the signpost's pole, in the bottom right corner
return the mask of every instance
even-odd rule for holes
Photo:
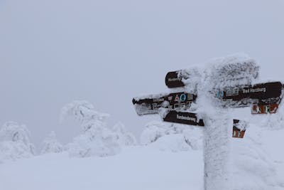
[[[258,126],[251,125],[244,139],[231,140],[231,189],[279,189],[284,184],[273,160],[262,147],[263,132]]]

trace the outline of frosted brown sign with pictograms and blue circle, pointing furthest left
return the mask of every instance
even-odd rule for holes
[[[170,93],[164,95],[149,95],[145,97],[134,97],[138,115],[156,114],[160,107],[169,109],[185,110],[196,100],[197,95],[191,93]]]

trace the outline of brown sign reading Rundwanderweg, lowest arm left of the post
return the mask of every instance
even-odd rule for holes
[[[182,112],[178,110],[168,110],[163,118],[165,122],[175,122],[185,125],[204,126],[203,120],[198,120],[197,115],[192,112]]]

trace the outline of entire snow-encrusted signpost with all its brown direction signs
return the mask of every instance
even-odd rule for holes
[[[282,83],[253,85],[258,70],[248,56],[217,58],[203,68],[168,73],[165,83],[172,93],[133,98],[138,115],[159,113],[165,122],[204,126],[205,190],[234,189],[229,182],[231,136],[244,137],[247,123],[232,117],[230,109],[252,106],[253,114],[278,109]]]

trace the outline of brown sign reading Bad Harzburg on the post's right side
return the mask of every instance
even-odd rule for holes
[[[233,107],[250,105],[279,104],[282,98],[283,85],[280,82],[261,83],[256,85],[226,88],[219,92],[222,100],[229,102]]]

